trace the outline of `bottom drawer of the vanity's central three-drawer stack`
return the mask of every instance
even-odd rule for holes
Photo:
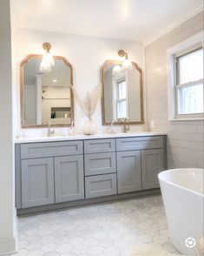
[[[116,194],[116,173],[85,178],[86,199]]]

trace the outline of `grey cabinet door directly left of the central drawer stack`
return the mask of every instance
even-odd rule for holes
[[[82,155],[55,158],[56,203],[84,199]]]

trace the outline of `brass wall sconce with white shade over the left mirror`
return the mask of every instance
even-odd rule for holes
[[[52,54],[49,51],[51,49],[51,44],[44,43],[43,49],[45,50],[45,53],[43,55],[43,60],[40,65],[40,71],[50,72],[51,67],[55,65],[54,57],[52,56]]]

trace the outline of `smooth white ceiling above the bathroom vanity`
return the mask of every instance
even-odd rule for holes
[[[202,0],[11,0],[17,28],[148,43],[202,9]]]

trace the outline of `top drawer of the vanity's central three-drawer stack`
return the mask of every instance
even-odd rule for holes
[[[115,152],[115,139],[84,140],[84,153]]]

